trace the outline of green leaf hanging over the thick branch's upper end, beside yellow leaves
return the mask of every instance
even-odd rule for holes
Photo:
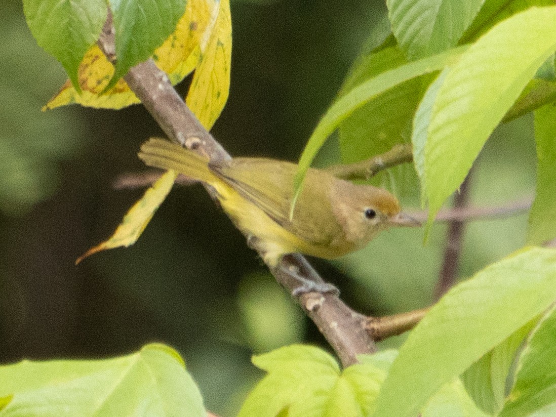
[[[105,91],[170,36],[186,0],[109,0],[116,31],[116,69]]]

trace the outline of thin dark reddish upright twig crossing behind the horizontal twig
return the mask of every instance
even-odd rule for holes
[[[459,192],[454,196],[454,209],[464,209],[469,200],[469,183],[471,178],[469,171],[467,177],[461,183]],[[438,282],[436,283],[435,297],[440,299],[446,291],[448,291],[455,283],[458,274],[459,257],[461,254],[461,244],[463,240],[465,222],[453,219],[448,226],[446,234],[446,247],[444,248],[444,262]]]

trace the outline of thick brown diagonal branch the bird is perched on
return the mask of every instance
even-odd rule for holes
[[[111,17],[108,18],[103,32],[99,40],[101,49],[113,60],[115,49]],[[166,74],[156,67],[152,59],[132,67],[123,78],[171,140],[202,152],[211,160],[230,158],[224,148],[201,126],[178,96]],[[290,270],[297,271],[309,280],[322,281],[304,257],[286,256],[279,267],[273,267],[271,271],[290,293],[299,286],[287,273]],[[364,329],[363,316],[349,309],[335,294],[310,292],[297,295],[296,299],[319,327],[344,366],[356,363],[359,354],[375,351],[374,341]]]

